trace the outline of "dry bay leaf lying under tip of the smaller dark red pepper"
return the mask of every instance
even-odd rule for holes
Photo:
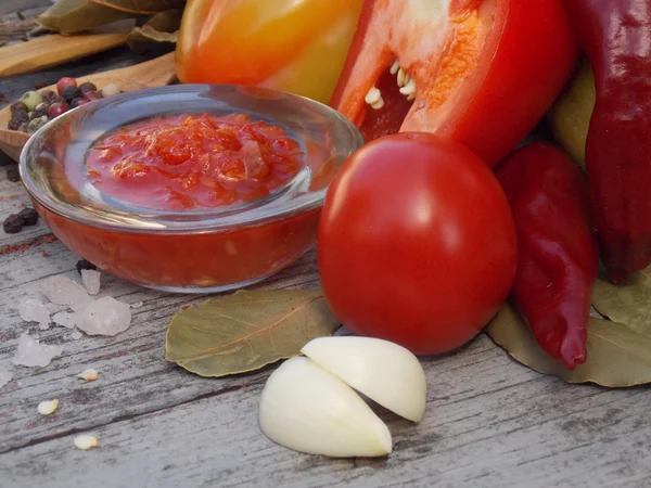
[[[516,361],[567,383],[596,383],[608,387],[651,383],[651,337],[622,323],[590,317],[588,359],[572,371],[547,356],[511,305],[502,307],[486,332]]]

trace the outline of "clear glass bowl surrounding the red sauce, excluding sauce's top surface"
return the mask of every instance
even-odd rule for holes
[[[107,132],[163,115],[247,113],[285,129],[303,149],[298,175],[273,193],[210,209],[152,210],[103,193],[86,154]],[[98,268],[168,292],[215,293],[259,282],[317,240],[326,190],[363,144],[336,111],[275,90],[177,85],[94,101],[49,121],[21,155],[21,176],[52,232]]]

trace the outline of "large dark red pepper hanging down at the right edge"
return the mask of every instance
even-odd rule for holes
[[[651,262],[651,1],[564,3],[595,72],[586,169],[601,259],[623,283]]]

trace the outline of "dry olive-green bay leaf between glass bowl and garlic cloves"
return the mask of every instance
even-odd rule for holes
[[[174,316],[165,359],[200,376],[244,373],[298,356],[339,326],[320,291],[239,291]]]

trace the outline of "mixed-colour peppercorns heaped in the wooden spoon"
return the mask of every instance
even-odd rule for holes
[[[61,114],[94,100],[119,93],[117,86],[110,84],[101,90],[91,82],[77,86],[75,78],[61,78],[53,90],[28,91],[11,104],[9,130],[20,130],[33,134],[49,120]]]

